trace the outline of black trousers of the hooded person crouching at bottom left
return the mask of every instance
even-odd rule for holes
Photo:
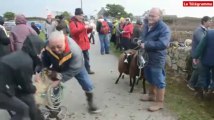
[[[15,112],[11,120],[43,120],[33,94],[8,96],[0,93],[0,108]]]

